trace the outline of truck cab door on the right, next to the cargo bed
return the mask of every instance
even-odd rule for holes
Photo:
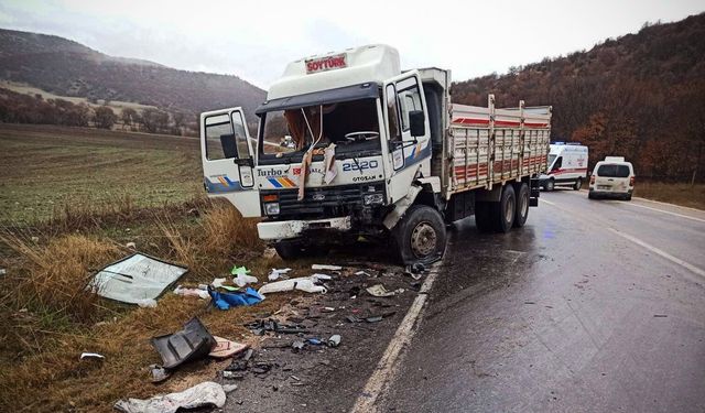
[[[384,117],[392,173],[388,194],[392,202],[406,196],[414,177],[431,172],[431,134],[423,86],[417,70],[384,83]]]

